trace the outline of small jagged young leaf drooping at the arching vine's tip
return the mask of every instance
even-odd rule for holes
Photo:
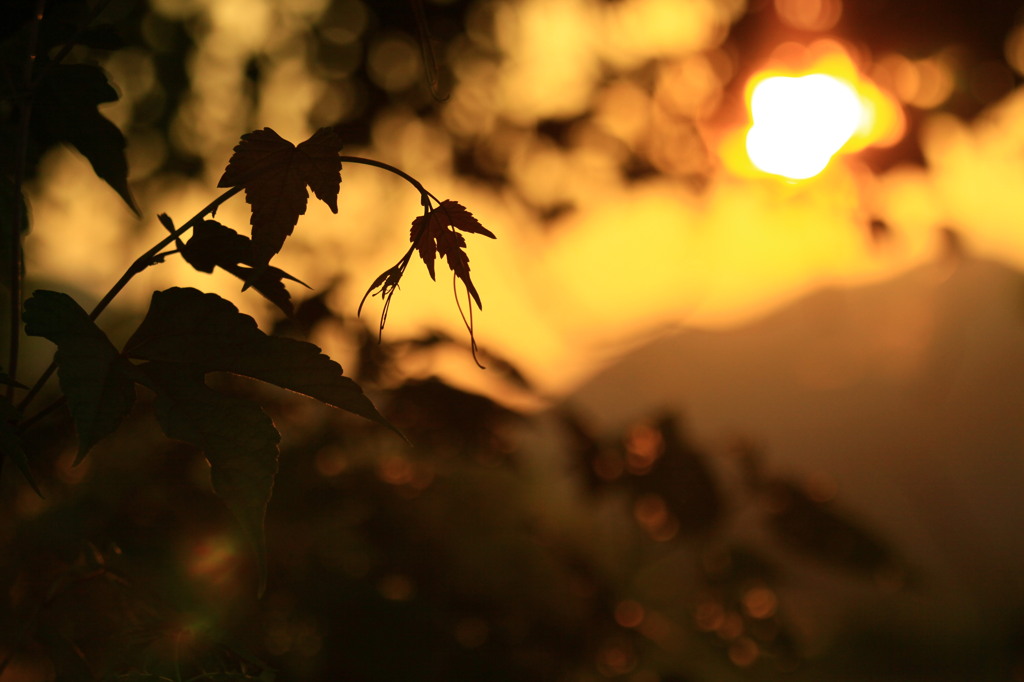
[[[409,238],[426,263],[431,280],[435,279],[435,254],[446,258],[449,267],[466,285],[466,291],[476,301],[476,306],[482,309],[480,295],[469,278],[469,256],[463,250],[466,248],[466,238],[456,231],[457,229],[495,239],[494,232],[481,225],[466,207],[447,199],[426,215],[413,220]]]

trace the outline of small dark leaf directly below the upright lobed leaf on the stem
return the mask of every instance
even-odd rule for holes
[[[180,245],[178,251],[185,262],[200,272],[213,272],[214,267],[220,267],[250,284],[289,316],[293,312],[292,297],[284,281],[291,280],[309,288],[301,280],[272,265],[255,268],[252,241],[216,220],[204,220],[196,225],[191,238]]]

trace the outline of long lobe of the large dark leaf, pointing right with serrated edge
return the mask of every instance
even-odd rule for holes
[[[215,294],[174,288],[153,295],[125,344],[129,357],[231,372],[308,395],[391,429],[341,366],[311,343],[267,336],[249,315]]]

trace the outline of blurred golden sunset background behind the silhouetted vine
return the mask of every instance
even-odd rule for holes
[[[255,600],[200,456],[140,409],[72,467],[55,415],[46,499],[3,472],[0,680],[1024,680],[1018,3],[102,16],[118,46],[72,56],[120,92],[100,111],[142,217],[51,153],[29,291],[88,308],[158,213],[217,196],[242,134],[337,124],[498,236],[467,240],[487,369],[418,263],[380,340],[379,298],[355,316],[421,212],[375,168],[346,164],[338,215],[310,204],[275,257],[310,287],[291,318],[222,271],[147,269],[113,338],[155,289],[216,292],[324,348],[414,446],[218,378],[283,434]],[[26,344],[32,376],[51,346]]]

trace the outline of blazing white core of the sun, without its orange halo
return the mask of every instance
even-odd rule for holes
[[[856,90],[824,74],[776,76],[751,95],[746,154],[766,173],[802,180],[817,175],[865,125]]]

